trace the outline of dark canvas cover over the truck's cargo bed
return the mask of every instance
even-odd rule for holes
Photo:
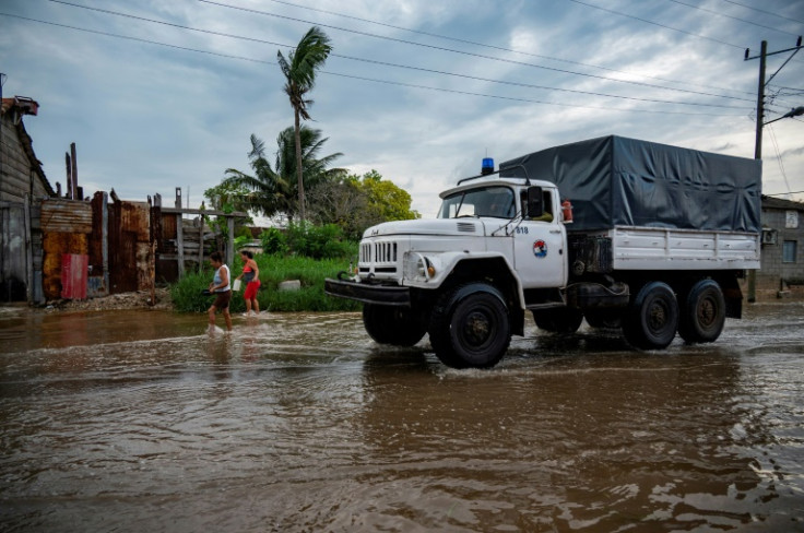
[[[524,167],[524,168],[523,168]],[[651,226],[758,233],[761,162],[608,135],[499,165],[572,203],[572,230]]]

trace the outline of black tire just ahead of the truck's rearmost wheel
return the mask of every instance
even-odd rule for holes
[[[666,283],[645,285],[623,317],[623,334],[641,350],[662,350],[675,337],[678,328],[678,303]]]

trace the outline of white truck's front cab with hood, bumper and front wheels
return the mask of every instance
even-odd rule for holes
[[[528,309],[566,308],[567,221],[558,189],[495,173],[440,198],[435,220],[368,228],[356,273],[327,280],[324,288],[363,301],[364,324],[379,343],[413,345],[429,333],[446,364],[494,366],[511,334],[524,334]],[[464,333],[457,345],[453,331]]]

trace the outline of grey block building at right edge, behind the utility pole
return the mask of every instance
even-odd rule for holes
[[[757,296],[804,296],[804,203],[762,197]]]

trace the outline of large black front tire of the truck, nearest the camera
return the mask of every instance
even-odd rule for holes
[[[505,298],[485,283],[470,283],[439,298],[428,331],[436,356],[452,368],[490,368],[511,342]]]

